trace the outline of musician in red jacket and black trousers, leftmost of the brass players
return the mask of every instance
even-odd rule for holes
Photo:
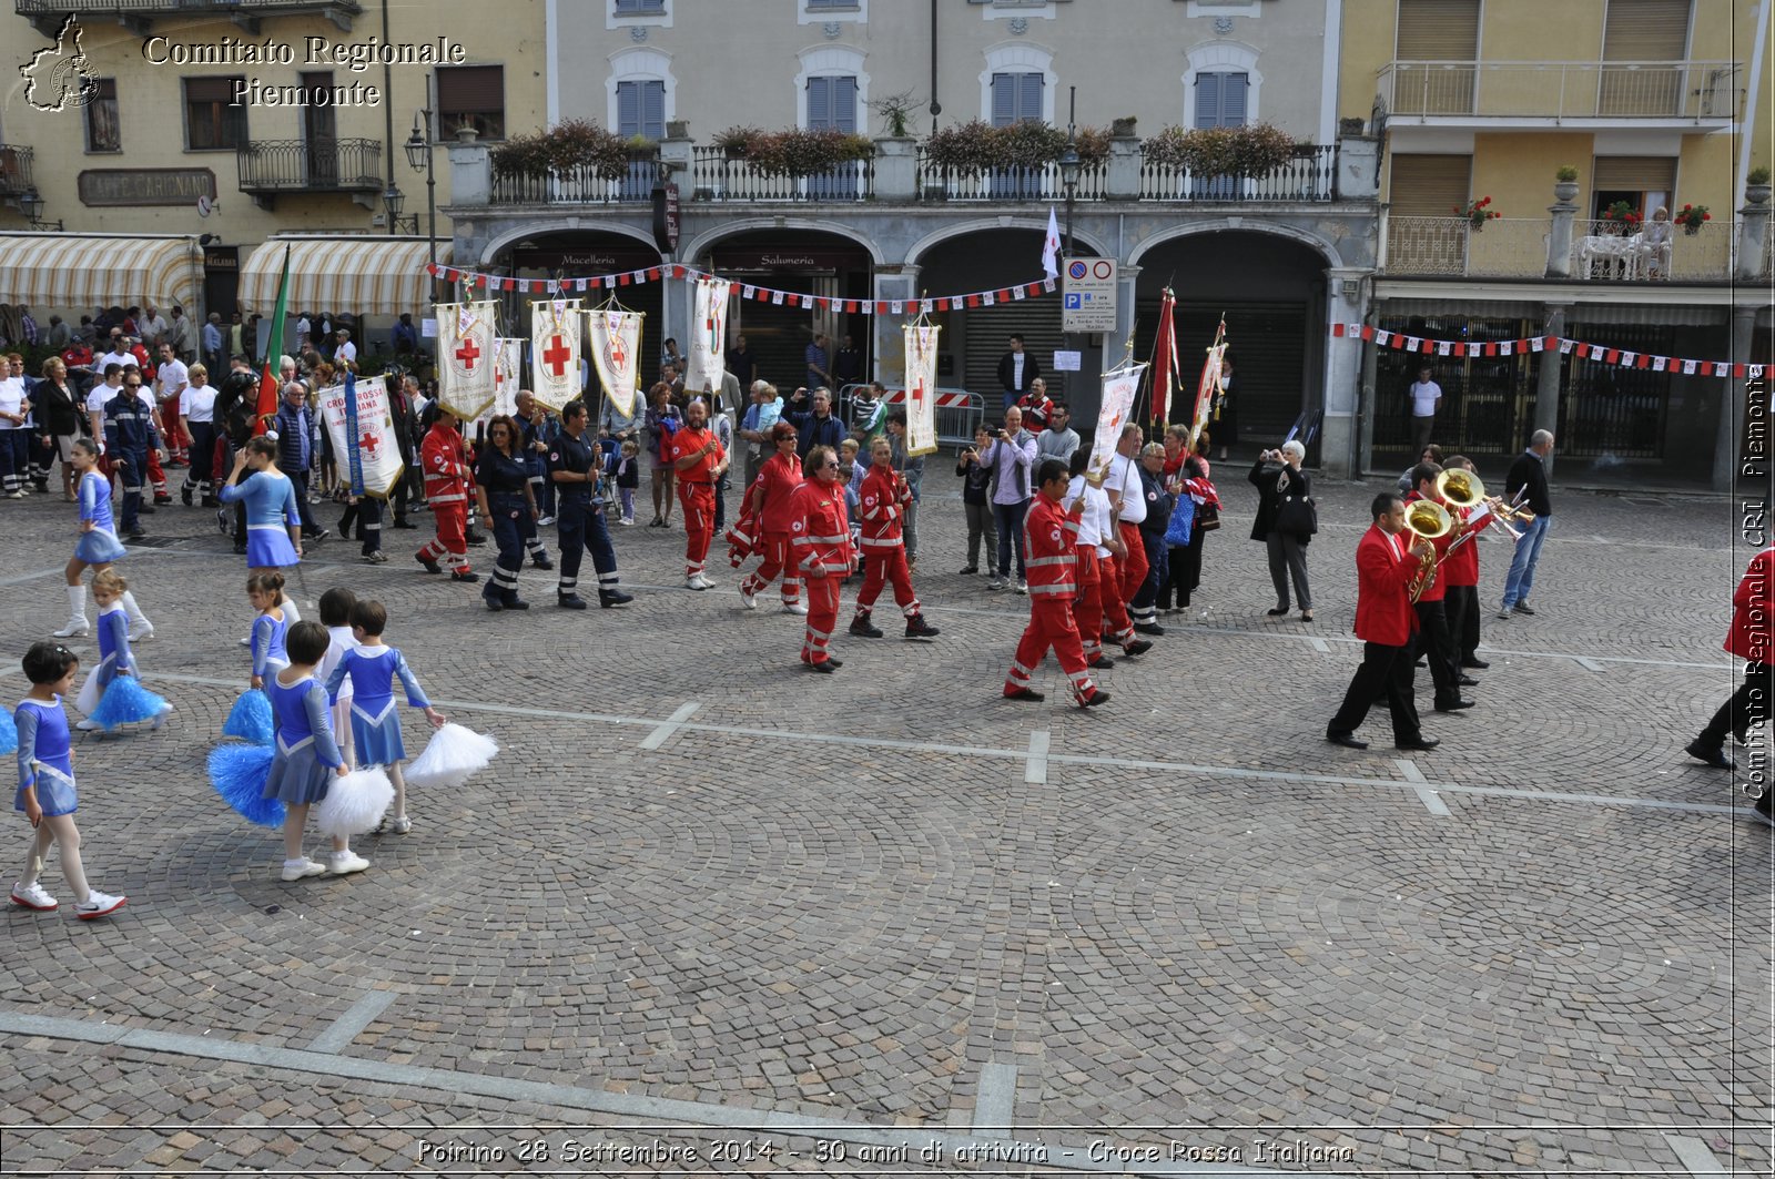
[[[1381,492],[1370,504],[1374,524],[1356,545],[1356,637],[1361,639],[1361,666],[1344,692],[1344,707],[1326,726],[1326,740],[1351,749],[1367,749],[1356,740],[1356,728],[1369,717],[1369,707],[1386,696],[1393,716],[1393,746],[1399,749],[1434,749],[1434,737],[1418,730],[1418,708],[1411,701],[1411,598],[1406,586],[1425,554],[1427,540],[1406,549],[1406,502],[1393,492]]]

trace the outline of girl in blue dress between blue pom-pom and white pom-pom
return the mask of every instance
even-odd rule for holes
[[[369,866],[367,859],[351,852],[351,842],[343,835],[332,836],[327,863],[302,854],[302,827],[307,826],[309,806],[327,797],[334,774],[346,774],[344,758],[332,737],[327,692],[314,680],[314,664],[327,653],[328,643],[327,627],[298,621],[289,629],[289,666],[264,682],[277,717],[277,753],[272,755],[261,797],[279,799],[289,808],[284,815],[286,881],[321,872],[350,875]]]

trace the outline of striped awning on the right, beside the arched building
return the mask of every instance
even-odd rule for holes
[[[289,311],[419,314],[431,305],[424,238],[270,238],[240,268],[241,311],[272,314],[289,249]],[[451,249],[438,243],[438,263]]]

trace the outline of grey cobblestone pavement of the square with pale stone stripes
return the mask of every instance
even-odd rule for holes
[[[424,533],[385,566],[318,545],[304,614],[383,600],[502,753],[359,840],[369,872],[300,884],[202,776],[247,680],[241,559],[209,511],[149,517],[121,570],[178,712],[78,746],[85,859],[130,906],[5,914],[0,1174],[1768,1174],[1770,831],[1747,772],[1683,755],[1732,685],[1725,499],[1558,495],[1534,618],[1491,618],[1486,542],[1480,705],[1420,684],[1443,744],[1408,756],[1381,714],[1367,753],[1322,739],[1374,485],[1321,488],[1317,621],[1274,621],[1221,465],[1195,607],[1083,712],[1053,662],[1047,703],[999,700],[1028,600],[955,574],[934,472],[943,636],[902,643],[884,602],[829,678],[724,565],[678,588],[680,533],[618,529],[637,600],[584,614],[536,570],[534,609],[485,613],[412,563]],[[14,696],[73,529],[0,504]]]

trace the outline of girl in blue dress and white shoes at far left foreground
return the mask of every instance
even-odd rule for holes
[[[78,898],[75,916],[82,922],[115,913],[124,897],[87,888],[87,874],[80,866],[80,829],[75,827],[75,753],[69,748],[67,714],[62,696],[75,685],[80,661],[60,643],[32,643],[25,652],[25,678],[30,694],[18,701],[12,723],[18,724],[18,794],[12,810],[25,811],[36,835],[30,842],[30,859],[25,875],[12,884],[12,904],[27,909],[50,911],[57,907],[37,875],[50,843],[62,851],[62,877]]]

